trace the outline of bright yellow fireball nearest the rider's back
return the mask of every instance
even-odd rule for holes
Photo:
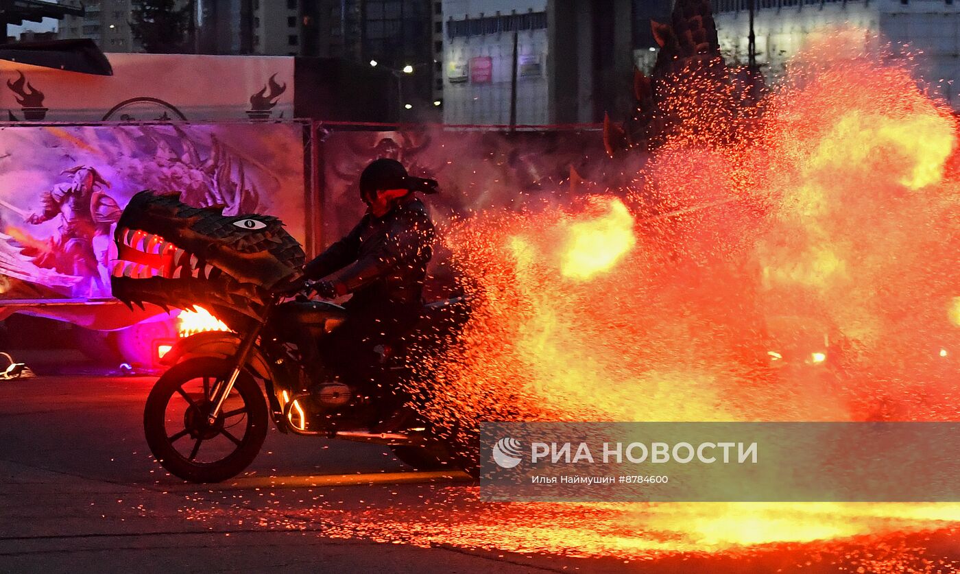
[[[610,271],[636,246],[634,218],[619,200],[607,200],[607,212],[570,225],[561,273],[586,280]]]

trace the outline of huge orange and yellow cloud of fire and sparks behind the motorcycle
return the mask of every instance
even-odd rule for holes
[[[446,241],[477,302],[463,344],[423,360],[432,408],[477,420],[956,419],[960,390],[929,348],[960,347],[957,122],[882,55],[789,69],[749,142],[681,133],[629,189],[453,226]],[[710,116],[696,98],[684,106],[692,121]],[[788,363],[777,344],[804,329],[818,346],[791,349],[799,366],[762,367],[771,352]],[[514,506],[512,517],[564,514]],[[597,542],[610,554],[642,545],[645,528],[630,527],[651,513],[670,533],[658,551],[960,522],[956,505],[651,509],[568,515],[616,514],[604,528],[618,535]]]

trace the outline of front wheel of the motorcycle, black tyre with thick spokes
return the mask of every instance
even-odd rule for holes
[[[213,424],[206,419],[227,361],[183,361],[157,379],[147,397],[143,428],[156,460],[171,474],[195,483],[236,476],[256,458],[267,437],[268,413],[260,387],[241,372]]]

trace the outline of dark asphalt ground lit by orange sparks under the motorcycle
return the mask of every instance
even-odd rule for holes
[[[731,546],[688,536],[712,507],[484,503],[462,474],[276,430],[242,476],[190,485],[144,441],[153,380],[0,381],[0,572],[960,571],[955,507],[919,523],[864,508],[833,516],[859,525],[835,539]],[[777,523],[739,518],[758,539]]]

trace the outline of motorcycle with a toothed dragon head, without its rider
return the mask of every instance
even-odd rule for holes
[[[144,191],[124,210],[114,240],[114,297],[131,306],[200,305],[230,328],[178,341],[147,398],[147,442],[175,476],[195,483],[236,476],[260,451],[270,419],[282,433],[376,442],[411,466],[476,476],[471,434],[457,421],[426,419],[398,391],[414,371],[403,353],[381,348],[366,383],[305,364],[304,346],[323,346],[347,310],[303,295],[290,300],[305,255],[276,218],[226,216]],[[464,298],[429,303],[408,340],[435,351],[455,338],[468,311]]]

